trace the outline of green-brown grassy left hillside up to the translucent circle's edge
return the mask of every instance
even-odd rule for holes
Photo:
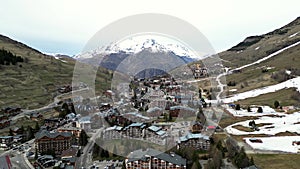
[[[2,35],[0,35],[0,48],[25,60],[17,65],[0,65],[0,108],[42,107],[50,103],[58,94],[59,87],[71,84],[76,60],[45,55]],[[101,76],[105,79],[109,74],[101,73]]]

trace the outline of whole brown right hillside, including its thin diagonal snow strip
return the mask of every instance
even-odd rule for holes
[[[300,76],[300,18],[265,35],[248,37],[219,56],[235,70],[226,76],[227,96]],[[282,101],[297,102],[290,99]]]

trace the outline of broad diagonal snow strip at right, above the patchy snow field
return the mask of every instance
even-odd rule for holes
[[[235,102],[238,100],[243,100],[243,99],[247,99],[250,97],[256,97],[256,96],[259,96],[262,94],[276,92],[281,89],[287,89],[287,88],[292,88],[292,87],[296,88],[297,91],[300,92],[300,77],[289,79],[287,81],[284,81],[284,82],[276,84],[276,85],[271,85],[271,86],[235,94],[232,97],[223,99],[223,102],[224,103],[232,103],[232,102]]]

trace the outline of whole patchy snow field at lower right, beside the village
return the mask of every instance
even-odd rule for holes
[[[257,113],[257,108],[252,108],[252,112],[248,112],[247,110],[237,111],[227,107],[226,109],[234,116],[257,116],[258,119],[254,120],[255,124],[263,124],[263,126],[258,127],[258,131],[251,132],[241,131],[234,128],[234,126],[238,125],[241,125],[243,127],[250,127],[249,122],[252,120],[246,120],[226,127],[225,131],[232,135],[269,135],[270,137],[246,137],[244,138],[244,140],[254,149],[297,153],[298,149],[300,149],[300,146],[292,145],[292,143],[293,141],[300,141],[300,136],[274,135],[283,132],[292,132],[300,134],[300,112],[295,112],[293,114],[284,114],[278,113],[268,106],[261,107],[264,110],[263,113]],[[259,139],[262,141],[262,143],[251,142],[249,139]]]

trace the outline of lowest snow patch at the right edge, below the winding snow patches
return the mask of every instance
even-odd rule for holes
[[[255,137],[255,139],[260,139],[262,143],[253,143],[249,139],[253,139],[253,137],[244,138],[247,144],[258,150],[297,153],[300,148],[300,146],[292,144],[293,141],[300,141],[300,136]]]

